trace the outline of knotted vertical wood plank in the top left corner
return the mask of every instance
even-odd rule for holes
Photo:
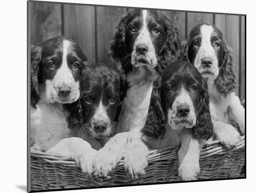
[[[30,2],[31,44],[61,35],[61,5]]]

